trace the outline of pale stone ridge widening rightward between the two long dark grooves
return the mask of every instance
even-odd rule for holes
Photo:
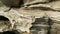
[[[33,1],[31,1],[33,2]],[[43,9],[43,10],[55,10],[55,11],[60,11],[60,1],[59,0],[56,0],[55,2],[50,2],[50,3],[27,3],[25,5],[25,7],[27,8],[37,8],[37,9]]]

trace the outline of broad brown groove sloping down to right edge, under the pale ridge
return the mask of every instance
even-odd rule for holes
[[[57,11],[57,12],[60,12],[60,10],[59,9],[54,9],[54,8],[51,8],[51,7],[44,7],[44,6],[40,6],[40,7],[34,7],[34,6],[32,6],[32,7],[30,7],[30,6],[28,6],[27,7],[28,9],[31,9],[31,10],[43,10],[43,11]]]

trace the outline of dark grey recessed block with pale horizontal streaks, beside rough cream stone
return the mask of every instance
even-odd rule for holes
[[[30,28],[33,34],[46,34],[45,32],[48,29],[48,23],[46,19],[43,18],[36,18],[35,22],[32,23],[32,27]],[[47,30],[48,31],[48,30]],[[44,33],[45,32],[45,33]]]

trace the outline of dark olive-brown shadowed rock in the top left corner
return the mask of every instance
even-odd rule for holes
[[[22,0],[0,0],[4,5],[8,7],[20,7]]]

